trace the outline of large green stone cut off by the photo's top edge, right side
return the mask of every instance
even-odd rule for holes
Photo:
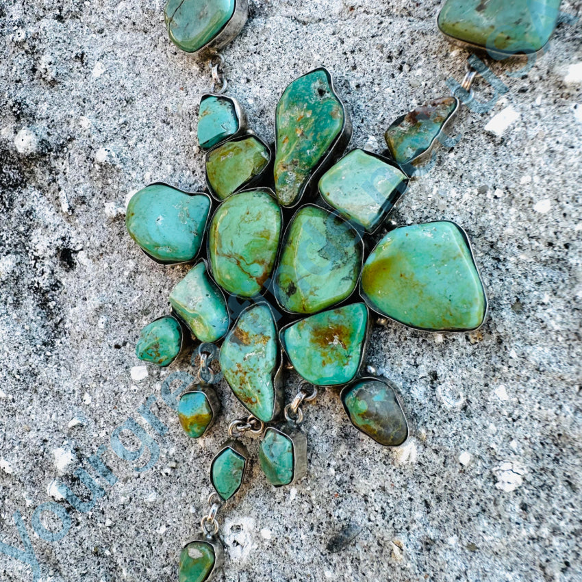
[[[446,0],[444,34],[493,53],[535,53],[550,40],[560,0]]]

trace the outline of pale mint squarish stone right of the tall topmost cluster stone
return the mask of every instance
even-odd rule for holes
[[[322,176],[322,198],[346,220],[372,231],[406,189],[407,176],[379,157],[355,149]]]

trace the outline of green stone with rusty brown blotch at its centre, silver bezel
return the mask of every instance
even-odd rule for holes
[[[304,380],[317,386],[344,384],[359,368],[367,325],[366,305],[354,303],[296,322],[281,339]]]

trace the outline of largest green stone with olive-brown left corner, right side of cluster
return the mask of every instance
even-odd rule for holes
[[[418,329],[468,331],[485,318],[483,284],[454,223],[390,231],[366,260],[361,284],[373,309]]]

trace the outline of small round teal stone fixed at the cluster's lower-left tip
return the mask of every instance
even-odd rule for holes
[[[170,316],[152,321],[140,331],[136,355],[144,362],[169,366],[180,353],[182,329]]]

